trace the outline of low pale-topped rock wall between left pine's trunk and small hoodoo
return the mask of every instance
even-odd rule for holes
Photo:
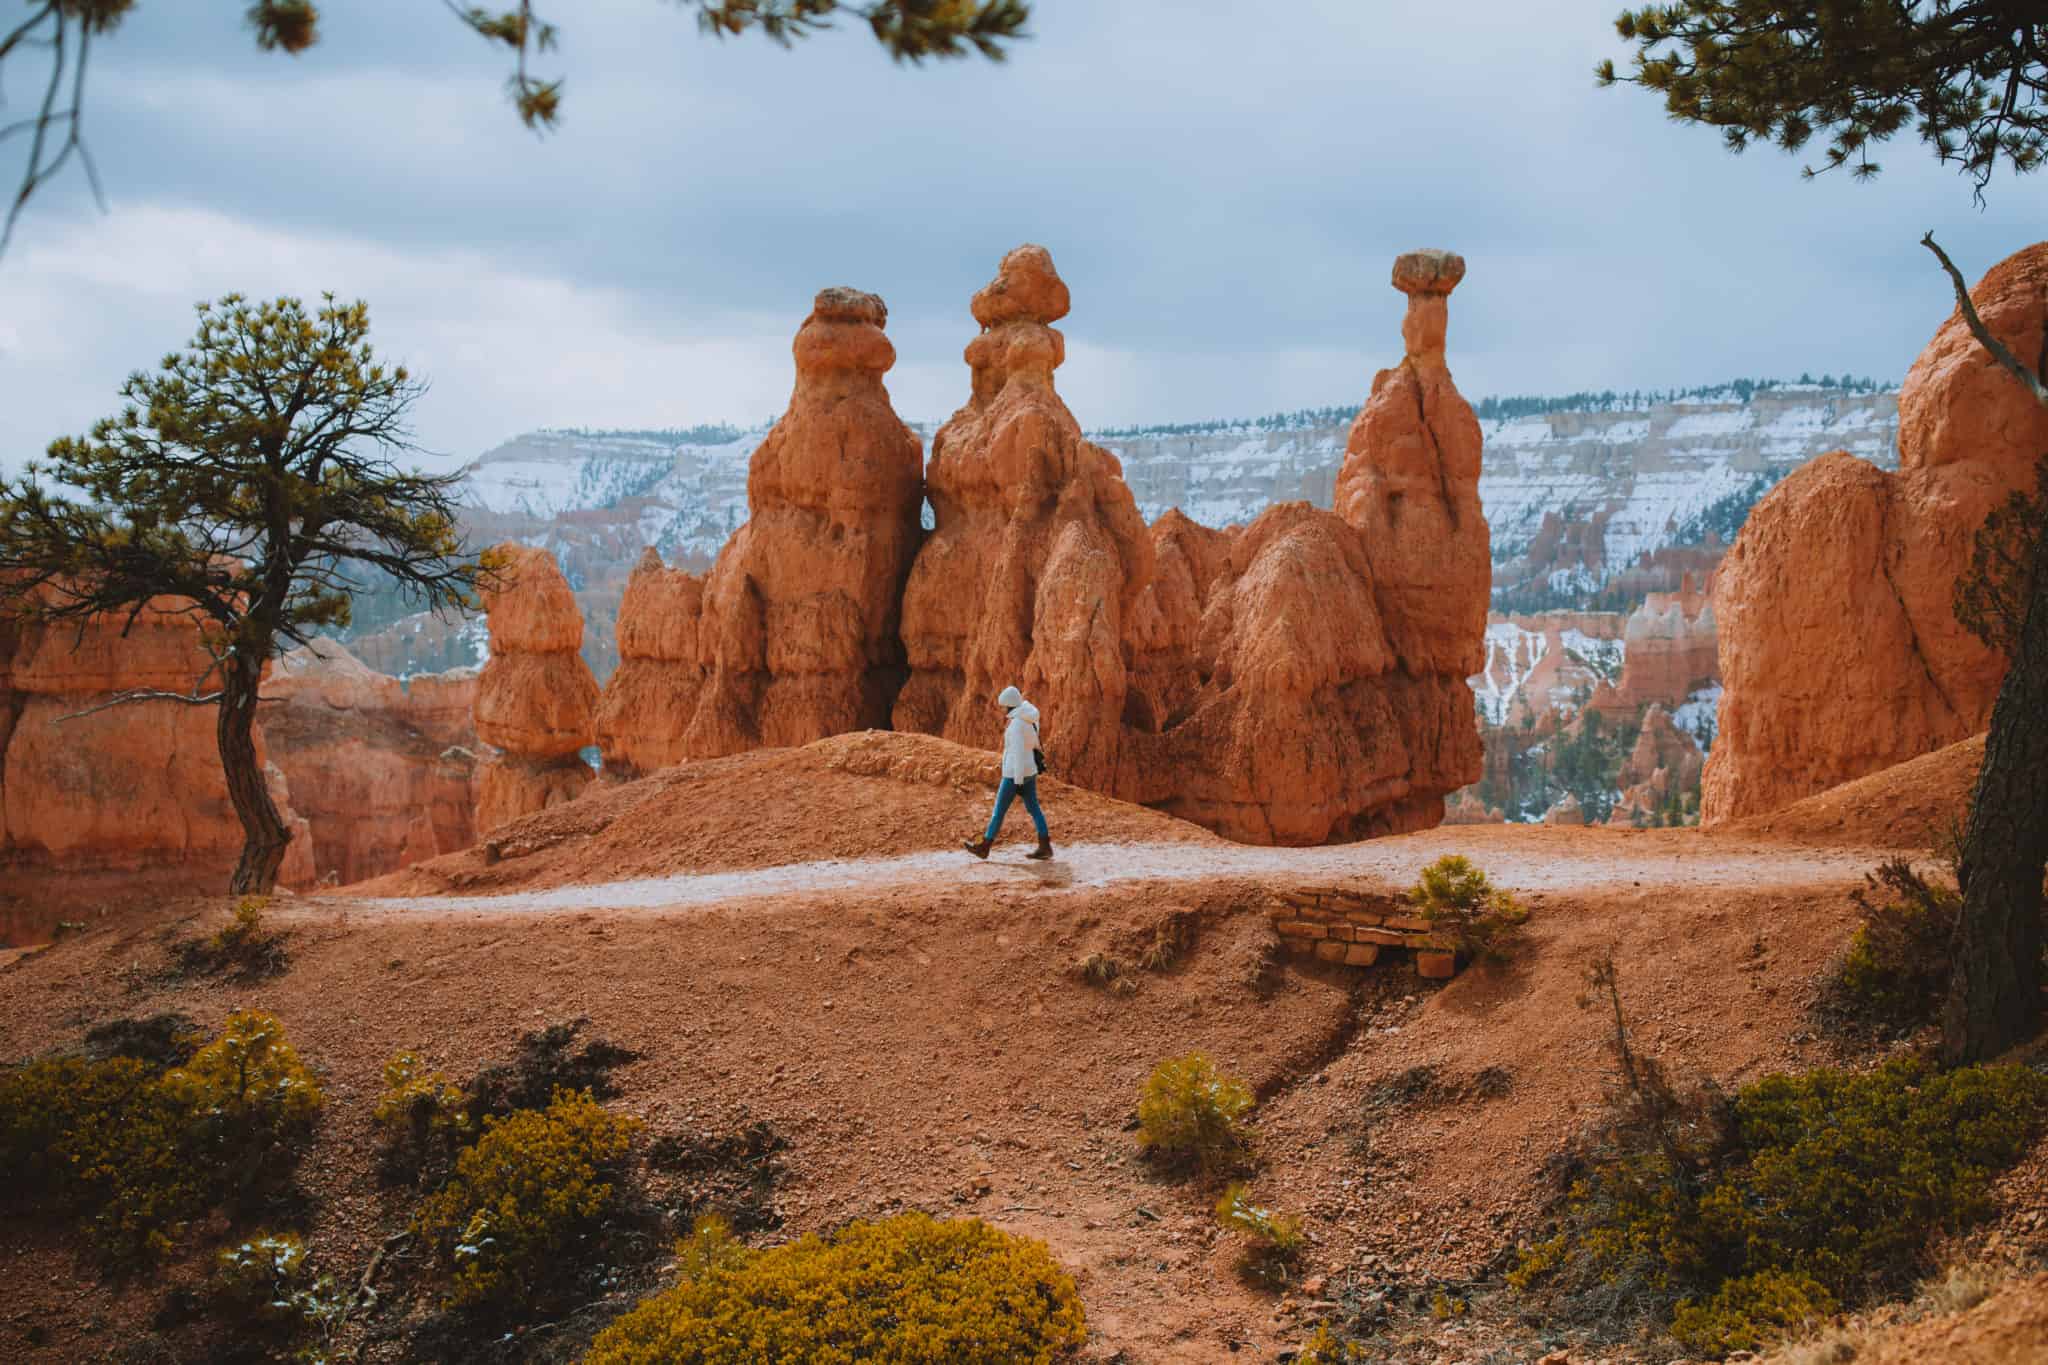
[[[260,724],[322,880],[360,882],[469,847],[475,696],[475,669],[399,684],[338,641],[276,661]]]

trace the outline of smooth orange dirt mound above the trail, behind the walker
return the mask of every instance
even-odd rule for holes
[[[930,735],[856,731],[666,767],[502,825],[473,849],[362,882],[381,896],[737,872],[946,849],[981,831],[995,755]],[[1051,776],[1038,792],[1055,843],[1219,843],[1208,831]],[[1028,839],[1014,806],[1006,839]],[[965,853],[963,853],[965,857]]]

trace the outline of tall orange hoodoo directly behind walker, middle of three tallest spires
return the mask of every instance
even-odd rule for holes
[[[1116,456],[1081,438],[1053,389],[1067,344],[1051,323],[1067,307],[1042,246],[1004,256],[973,299],[973,393],[932,438],[936,530],[903,593],[895,729],[993,747],[995,694],[1020,684],[1061,774],[1116,790],[1124,636],[1153,542]]]

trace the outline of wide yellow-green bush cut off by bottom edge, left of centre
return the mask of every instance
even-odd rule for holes
[[[903,1214],[772,1250],[698,1246],[584,1365],[1047,1365],[1087,1340],[1042,1242]]]

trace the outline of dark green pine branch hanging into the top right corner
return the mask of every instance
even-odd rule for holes
[[[2048,153],[2048,10],[2040,0],[1677,0],[1622,10],[1632,72],[1602,84],[1665,98],[1679,123],[1720,129],[1729,149],[1788,151],[1821,133],[1819,174],[1878,174],[1874,143],[1915,129],[1982,194],[2003,162]]]

